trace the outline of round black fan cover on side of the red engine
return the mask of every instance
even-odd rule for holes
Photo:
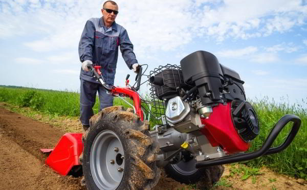
[[[259,134],[259,123],[256,111],[249,102],[233,100],[231,102],[232,120],[239,136],[246,142]]]

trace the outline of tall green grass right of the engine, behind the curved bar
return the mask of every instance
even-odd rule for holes
[[[262,100],[250,101],[257,111],[260,121],[260,134],[253,140],[250,151],[260,149],[262,143],[269,135],[275,123],[285,114],[295,114],[301,118],[301,127],[291,145],[284,151],[268,156],[262,156],[248,162],[251,167],[267,165],[276,172],[295,175],[306,179],[307,174],[307,110],[306,102],[289,105],[276,103],[274,100],[264,98]],[[292,123],[288,124],[278,135],[273,146],[277,147],[286,139],[291,130]]]

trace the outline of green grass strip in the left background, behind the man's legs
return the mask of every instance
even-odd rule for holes
[[[37,111],[54,115],[79,116],[80,114],[80,94],[78,92],[0,87],[0,101],[20,107],[31,107]],[[129,99],[127,101],[133,103]],[[114,99],[114,105],[130,107],[119,98]],[[98,97],[93,110],[94,113],[99,111]]]

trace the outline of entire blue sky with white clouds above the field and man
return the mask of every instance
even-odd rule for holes
[[[79,90],[78,42],[102,1],[0,1],[0,84]],[[117,1],[139,63],[204,50],[236,70],[249,98],[307,98],[307,1]],[[121,55],[115,84],[128,70]],[[146,86],[141,88],[143,92]],[[288,97],[287,100],[280,100]]]

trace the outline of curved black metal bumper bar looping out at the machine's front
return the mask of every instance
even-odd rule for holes
[[[289,122],[293,122],[293,126],[286,140],[283,142],[282,145],[275,147],[275,148],[270,148],[272,144],[274,143],[275,139],[277,138],[278,134],[280,133],[280,131]],[[255,152],[251,152],[251,153],[231,155],[231,156],[227,156],[227,157],[223,157],[219,159],[198,162],[195,164],[195,168],[203,168],[203,167],[210,167],[213,165],[233,163],[233,162],[238,162],[238,161],[246,161],[246,160],[257,158],[259,156],[280,152],[286,149],[291,144],[292,140],[294,139],[295,135],[297,134],[300,128],[300,124],[301,124],[301,120],[298,116],[292,115],[292,114],[284,115],[283,117],[280,118],[277,124],[275,124],[274,128],[271,130],[269,136],[267,137],[265,143],[262,145],[262,147],[259,150]]]

